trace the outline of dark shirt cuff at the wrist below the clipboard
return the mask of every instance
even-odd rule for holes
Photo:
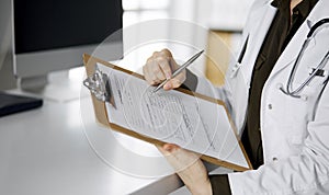
[[[231,195],[227,174],[209,175],[213,195]]]

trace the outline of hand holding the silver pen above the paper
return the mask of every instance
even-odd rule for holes
[[[183,70],[177,77],[171,78],[172,72],[180,66],[174,61],[170,50],[162,49],[161,51],[155,51],[151,57],[146,61],[143,67],[143,73],[145,80],[156,85],[161,83],[166,79],[170,79],[164,85],[164,90],[172,90],[179,88],[186,79],[186,70]]]

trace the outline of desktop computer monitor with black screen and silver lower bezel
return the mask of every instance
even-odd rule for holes
[[[44,84],[50,71],[81,66],[82,54],[114,32],[102,44],[106,60],[123,57],[121,0],[12,0],[11,13],[14,74],[22,88]]]

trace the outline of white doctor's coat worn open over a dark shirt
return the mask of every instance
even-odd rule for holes
[[[243,31],[248,44],[240,64],[227,70],[223,89],[209,88],[200,79],[196,91],[224,99],[242,134],[251,73],[260,47],[276,9],[271,0],[256,0]],[[329,18],[329,0],[319,0],[291,39],[266,80],[261,97],[261,135],[264,165],[258,170],[230,173],[234,195],[248,194],[329,194],[329,87],[326,77],[316,77],[303,91],[302,99],[284,94],[287,79],[310,26]],[[329,24],[316,33],[298,65],[296,89],[329,49]],[[327,62],[325,70],[329,70]]]

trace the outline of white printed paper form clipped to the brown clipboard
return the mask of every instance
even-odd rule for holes
[[[106,104],[110,123],[248,168],[222,105],[179,91],[152,93],[145,80],[98,64],[110,79],[115,108]]]

